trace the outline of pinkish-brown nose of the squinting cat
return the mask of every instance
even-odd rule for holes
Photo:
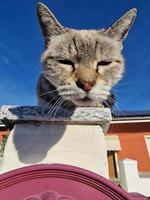
[[[95,85],[96,81],[77,81],[77,86],[81,89],[83,89],[86,92],[89,92],[92,87]]]

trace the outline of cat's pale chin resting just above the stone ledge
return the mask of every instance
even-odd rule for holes
[[[103,107],[103,104],[88,98],[71,99],[72,103],[78,107]]]

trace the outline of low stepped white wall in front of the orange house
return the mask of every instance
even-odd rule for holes
[[[119,161],[121,186],[128,192],[138,192],[150,196],[150,178],[139,177],[137,161]]]

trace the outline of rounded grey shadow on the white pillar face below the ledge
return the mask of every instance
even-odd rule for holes
[[[48,150],[61,139],[65,129],[66,125],[55,126],[53,123],[44,126],[36,124],[15,126],[13,142],[19,160],[25,164],[36,164],[44,160]]]

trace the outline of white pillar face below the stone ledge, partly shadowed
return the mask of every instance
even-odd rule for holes
[[[108,178],[101,126],[16,124],[8,137],[0,172],[39,163],[68,164]]]

